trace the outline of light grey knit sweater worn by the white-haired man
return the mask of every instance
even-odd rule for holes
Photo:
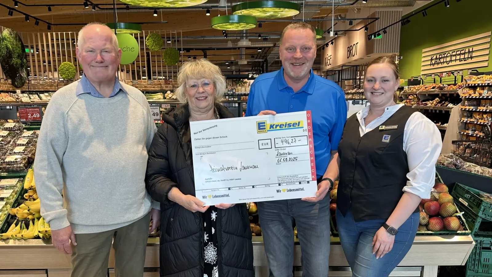
[[[75,95],[76,81],[46,108],[34,160],[41,215],[52,230],[75,234],[128,225],[158,208],[145,189],[156,127],[138,89],[111,98]],[[62,196],[63,195],[63,196]]]

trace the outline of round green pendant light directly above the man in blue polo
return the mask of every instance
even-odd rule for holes
[[[301,5],[289,1],[250,1],[232,6],[232,14],[251,15],[257,18],[281,18],[297,15]]]

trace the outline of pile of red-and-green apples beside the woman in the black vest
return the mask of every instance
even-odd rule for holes
[[[430,199],[422,199],[419,204],[419,232],[424,231],[464,231],[458,218],[458,210],[448,187],[435,183]]]

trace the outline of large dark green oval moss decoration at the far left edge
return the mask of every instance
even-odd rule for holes
[[[6,29],[0,36],[0,64],[14,87],[24,86],[28,78],[26,48],[19,34],[12,29]]]

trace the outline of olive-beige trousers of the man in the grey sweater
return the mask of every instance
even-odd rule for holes
[[[121,228],[101,233],[75,234],[71,277],[107,277],[111,245],[116,277],[143,277],[150,213]]]

